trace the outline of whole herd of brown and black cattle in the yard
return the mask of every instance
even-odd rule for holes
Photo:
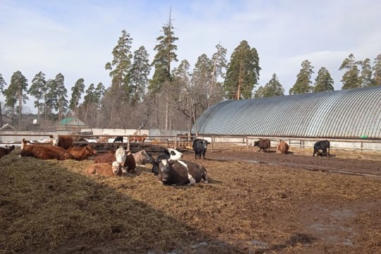
[[[190,162],[181,159],[183,154],[176,149],[168,148],[158,155],[156,159],[149,155],[145,150],[140,150],[134,154],[119,146],[116,150],[103,152],[97,155],[97,151],[88,144],[85,147],[73,147],[73,138],[69,135],[52,135],[52,144],[32,143],[23,139],[21,145],[21,157],[35,157],[37,159],[75,159],[83,160],[95,156],[93,164],[87,167],[85,174],[95,174],[99,176],[122,176],[123,173],[134,174],[136,165],[146,167],[146,164],[152,164],[151,172],[157,176],[157,179],[166,185],[176,184],[192,185],[203,180],[208,182],[207,170],[198,162]],[[145,137],[140,137],[145,139]],[[114,140],[123,142],[122,136],[117,136]],[[200,138],[193,140],[193,151],[195,159],[205,159],[207,145],[209,142]],[[260,139],[253,143],[258,146],[259,151],[270,152],[270,140]],[[15,146],[0,147],[0,158],[8,155]],[[289,152],[289,145],[284,141],[279,141],[277,150],[286,155]],[[315,143],[313,147],[313,156],[329,156],[329,141],[322,140]]]

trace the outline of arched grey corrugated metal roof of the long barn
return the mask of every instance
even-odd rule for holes
[[[381,87],[226,100],[207,109],[200,135],[381,138]],[[195,133],[193,126],[193,133]]]

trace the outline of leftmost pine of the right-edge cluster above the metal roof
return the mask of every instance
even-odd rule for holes
[[[341,89],[351,89],[361,87],[361,79],[359,78],[360,71],[358,70],[358,61],[356,61],[353,54],[350,54],[348,58],[344,59],[341,63],[339,71],[346,70],[341,82],[343,86]]]

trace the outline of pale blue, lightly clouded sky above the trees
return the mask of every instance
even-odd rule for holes
[[[314,66],[313,81],[324,66],[340,90],[344,72],[338,69],[349,54],[372,64],[381,54],[378,0],[0,0],[0,73],[7,84],[15,71],[29,82],[40,71],[47,79],[62,73],[69,97],[79,78],[86,88],[99,82],[109,87],[104,65],[112,60],[121,30],[131,35],[132,51],[143,45],[152,59],[169,6],[179,62],[187,59],[193,69],[198,56],[211,57],[219,42],[229,61],[246,40],[260,56],[257,87],[277,73],[286,94],[306,59]],[[32,99],[27,107],[34,112]]]

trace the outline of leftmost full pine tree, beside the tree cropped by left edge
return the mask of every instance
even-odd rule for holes
[[[18,102],[18,123],[21,121],[23,104],[25,104],[28,99],[28,96],[26,95],[28,92],[27,88],[28,80],[25,78],[23,73],[16,71],[11,77],[11,83],[4,91],[4,95],[6,96],[6,106],[12,108],[13,114],[15,113],[16,102]],[[12,124],[14,124],[13,116]]]

